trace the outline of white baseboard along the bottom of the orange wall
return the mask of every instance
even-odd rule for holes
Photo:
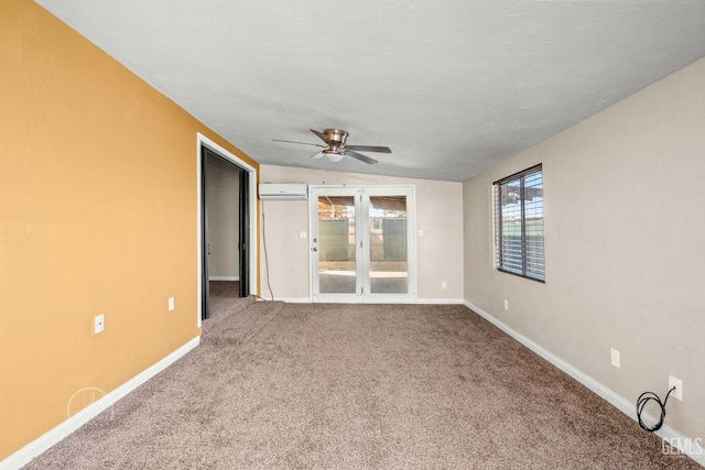
[[[31,441],[17,452],[0,461],[0,470],[14,470],[25,466],[30,460],[37,457],[45,450],[48,450],[52,446],[69,436],[76,429],[88,423],[94,417],[98,416],[101,412],[111,407],[128,393],[132,392],[134,389],[142,385],[144,382],[176,362],[182,356],[197,347],[199,342],[200,337],[197,336],[154,365],[140,372],[122,385],[118,386],[112,392],[104,395],[101,398],[86,406],[84,409],[76,413],[58,426],[44,433],[35,440]]]

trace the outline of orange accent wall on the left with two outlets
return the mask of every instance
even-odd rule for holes
[[[0,460],[75,392],[200,334],[197,132],[259,167],[34,2],[0,0]]]

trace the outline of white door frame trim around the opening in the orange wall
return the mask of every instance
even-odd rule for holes
[[[203,212],[203,201],[205,199],[205,187],[203,187],[202,168],[204,164],[204,155],[202,149],[206,147],[208,151],[218,154],[219,157],[227,160],[235,164],[242,171],[247,172],[249,177],[248,187],[248,221],[249,221],[249,239],[250,241],[257,240],[257,210],[253,210],[252,204],[257,200],[257,170],[239,159],[228,150],[218,145],[213,140],[203,135],[200,132],[196,134],[196,253],[197,253],[197,286],[196,286],[196,305],[197,305],[197,326],[200,327],[203,318],[203,303],[204,303],[204,263],[206,262],[204,256],[204,233],[203,226],[205,222],[205,214]],[[257,243],[251,242],[247,254],[249,255],[249,277],[250,277],[250,292],[251,295],[257,295],[257,286],[259,283],[258,265],[257,265]]]

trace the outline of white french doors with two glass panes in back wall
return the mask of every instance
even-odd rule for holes
[[[310,186],[313,302],[416,299],[413,186]]]

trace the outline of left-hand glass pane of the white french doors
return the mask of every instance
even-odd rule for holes
[[[355,196],[318,196],[318,293],[357,293]]]

